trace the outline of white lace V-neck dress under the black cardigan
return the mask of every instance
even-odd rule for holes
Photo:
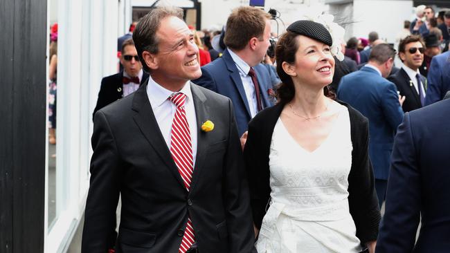
[[[342,106],[327,139],[313,152],[278,119],[270,154],[271,205],[256,243],[259,253],[360,252],[348,207],[352,141]]]

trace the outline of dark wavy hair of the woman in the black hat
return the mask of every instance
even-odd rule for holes
[[[287,73],[282,68],[282,63],[287,62],[289,64],[294,64],[296,61],[296,52],[298,49],[298,40],[295,32],[287,31],[278,39],[278,43],[276,45],[275,55],[276,55],[276,72],[278,73],[278,77],[281,79],[281,83],[278,84],[276,88],[276,98],[278,100],[278,104],[287,104],[294,99],[294,95],[296,90],[294,88],[294,82],[292,81],[292,77],[287,75]],[[330,91],[328,86],[323,88],[323,93],[325,96],[330,97],[332,99],[335,98],[334,93]]]

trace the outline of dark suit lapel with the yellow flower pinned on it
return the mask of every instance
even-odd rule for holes
[[[194,100],[195,115],[197,118],[197,156],[195,158],[194,173],[192,174],[192,183],[190,185],[190,192],[195,190],[195,185],[199,180],[199,175],[206,158],[206,151],[208,151],[208,136],[210,134],[201,131],[201,124],[206,120],[210,119],[210,109],[209,106],[205,104],[206,97],[200,88],[190,83],[190,89],[192,91],[192,97]]]

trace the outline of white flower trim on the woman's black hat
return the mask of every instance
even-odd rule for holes
[[[344,55],[341,51],[341,42],[344,41],[345,29],[339,24],[334,23],[334,17],[330,14],[321,14],[321,15],[305,15],[303,17],[304,20],[314,21],[318,24],[322,24],[325,28],[330,32],[330,35],[333,40],[333,44],[331,46],[331,53],[333,56],[336,56],[339,61],[343,61]]]

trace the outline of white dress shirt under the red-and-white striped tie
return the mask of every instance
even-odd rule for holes
[[[190,91],[190,82],[186,84],[179,91],[185,94],[186,102],[184,102],[184,109],[186,117],[188,118],[190,140],[192,143],[192,160],[195,166],[195,158],[197,156],[197,118],[195,115],[194,100],[192,99],[192,91]],[[165,143],[170,150],[170,139],[172,133],[172,122],[177,111],[177,106],[169,100],[170,95],[178,92],[169,91],[163,86],[154,82],[152,76],[148,78],[147,97],[152,105],[152,111],[156,122],[158,122],[159,130],[163,134]]]

